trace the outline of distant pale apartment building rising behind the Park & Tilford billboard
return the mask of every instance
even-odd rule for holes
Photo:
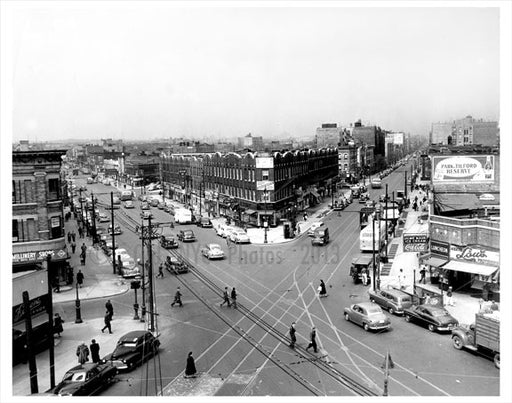
[[[498,122],[476,120],[471,116],[453,122],[432,123],[430,132],[430,144],[496,146],[498,142]]]

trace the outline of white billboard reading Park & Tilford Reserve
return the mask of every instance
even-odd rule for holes
[[[434,183],[493,183],[494,155],[434,156]]]

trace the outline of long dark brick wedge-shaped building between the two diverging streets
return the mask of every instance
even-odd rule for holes
[[[338,151],[163,155],[170,197],[209,214],[252,225],[277,225],[317,203],[338,174]]]

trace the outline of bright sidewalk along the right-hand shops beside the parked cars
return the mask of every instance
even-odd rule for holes
[[[420,199],[419,191],[414,190],[409,194],[411,199],[411,206],[407,209],[407,219],[403,228],[403,233],[414,232],[414,233],[423,233],[428,231],[428,221],[424,221],[423,223],[418,223],[418,217],[423,215],[424,213],[421,211],[414,211],[412,209],[412,200],[414,200],[414,196],[418,194],[418,199]],[[425,193],[423,192],[423,195]],[[390,241],[388,244],[388,251],[391,249],[392,245],[397,245],[398,249],[396,251],[396,256],[393,259],[391,270],[389,275],[381,276],[381,289],[385,288],[400,288],[403,286],[405,291],[412,293],[414,290],[414,278],[416,278],[416,284],[420,278],[420,269],[419,269],[419,260],[418,254],[416,252],[404,252],[403,249],[403,236],[400,235]],[[402,272],[400,272],[402,270]],[[431,285],[430,279],[427,277],[427,284],[424,286],[425,288],[432,288],[436,292],[439,292],[439,288],[435,285]],[[471,324],[475,321],[475,313],[480,310],[480,302],[477,298],[473,298],[470,295],[464,293],[453,293],[453,299],[455,301],[455,306],[445,305],[445,309],[450,312],[460,323]]]

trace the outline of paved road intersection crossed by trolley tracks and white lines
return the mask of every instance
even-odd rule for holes
[[[406,169],[409,174],[410,168],[404,167],[383,180],[390,192],[404,188]],[[100,201],[109,201],[109,194],[100,193],[112,188],[101,184],[88,187],[99,194]],[[383,192],[384,188],[370,189],[373,199]],[[339,373],[381,394],[381,364],[387,350],[395,363],[390,395],[497,395],[499,372],[492,362],[455,351],[449,335],[429,333],[397,316],[391,317],[392,330],[383,333],[367,333],[344,321],[345,306],[368,298],[366,288],[354,285],[348,276],[351,258],[359,252],[360,207],[356,201],[341,217],[334,213],[325,218],[332,239],[326,247],[313,248],[310,239],[302,236],[291,243],[242,245],[228,251],[213,230],[191,227],[200,242],[181,244],[179,251],[195,263],[198,275],[174,277],[166,273],[164,279],[155,280],[163,346],[159,360],[120,375],[120,381],[103,395],[154,395],[160,386],[170,395],[352,395],[340,382]],[[161,210],[152,208],[152,212],[155,221],[169,220]],[[116,215],[128,214],[137,221],[139,213],[138,202],[133,210],[116,211]],[[139,257],[136,234],[124,228],[117,242],[133,257]],[[220,243],[228,258],[207,261],[202,257],[199,247],[209,242]],[[154,252],[156,263],[167,254],[156,243]],[[320,279],[327,284],[328,298],[316,296]],[[178,285],[183,289],[185,306],[170,308]],[[221,298],[216,290],[224,286],[236,287],[240,309],[219,307]],[[132,313],[133,297],[130,292],[114,298],[116,312]],[[82,306],[85,314],[103,312],[102,303],[84,301]],[[73,306],[65,308],[72,310]],[[260,325],[248,319],[249,311]],[[297,322],[296,350],[280,339],[292,321]],[[303,350],[313,324],[318,330],[318,354]],[[275,329],[272,334],[262,329],[267,325]],[[182,378],[189,351],[194,352],[202,372],[195,380]],[[155,383],[160,374],[161,383]]]

